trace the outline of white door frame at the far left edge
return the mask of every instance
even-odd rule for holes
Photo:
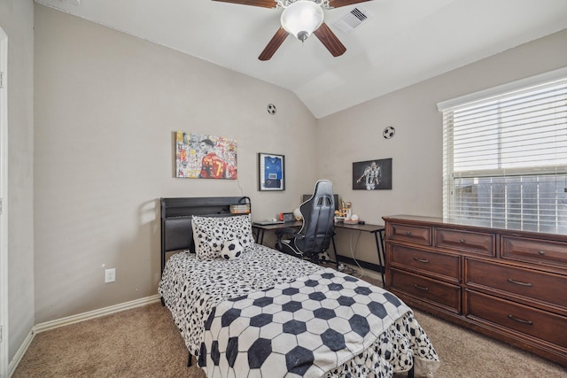
[[[0,378],[8,377],[8,35],[0,27]]]

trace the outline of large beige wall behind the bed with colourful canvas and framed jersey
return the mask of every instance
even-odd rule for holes
[[[239,180],[176,179],[175,130],[237,139]],[[292,210],[314,140],[287,90],[36,4],[36,322],[157,294],[159,197],[245,195],[258,220]],[[285,191],[257,191],[258,152],[285,155]]]

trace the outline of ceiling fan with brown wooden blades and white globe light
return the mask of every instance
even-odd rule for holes
[[[363,3],[371,0],[213,0],[222,3],[260,6],[264,8],[283,8],[281,23],[276,35],[260,53],[260,60],[269,60],[276,53],[288,35],[294,35],[304,42],[312,33],[329,50],[333,57],[346,51],[330,27],[323,21],[323,8],[333,9],[341,6]]]

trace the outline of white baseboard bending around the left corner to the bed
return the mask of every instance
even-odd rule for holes
[[[39,323],[31,329],[29,334],[27,335],[24,343],[19,346],[18,351],[14,355],[12,361],[10,361],[10,366],[8,366],[8,376],[11,377],[12,374],[16,371],[16,367],[19,365],[19,361],[24,357],[26,354],[27,348],[29,345],[34,341],[34,337],[36,334],[49,331],[50,329],[55,329],[59,327],[65,327],[74,323],[79,323],[85,320],[91,320],[100,318],[101,316],[110,315],[115,312],[121,312],[125,310],[131,310],[136,307],[141,307],[143,305],[151,305],[156,302],[159,302],[159,295],[156,294],[155,296],[151,297],[144,297],[140,299],[135,299],[133,301],[124,302],[119,305],[111,305],[109,307],[100,308],[98,310],[89,311],[89,312],[82,312],[76,315],[67,316],[65,318],[57,319],[57,320],[50,320],[44,323]]]

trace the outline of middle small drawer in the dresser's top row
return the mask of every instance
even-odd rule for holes
[[[435,246],[496,256],[496,236],[481,232],[435,228]]]

